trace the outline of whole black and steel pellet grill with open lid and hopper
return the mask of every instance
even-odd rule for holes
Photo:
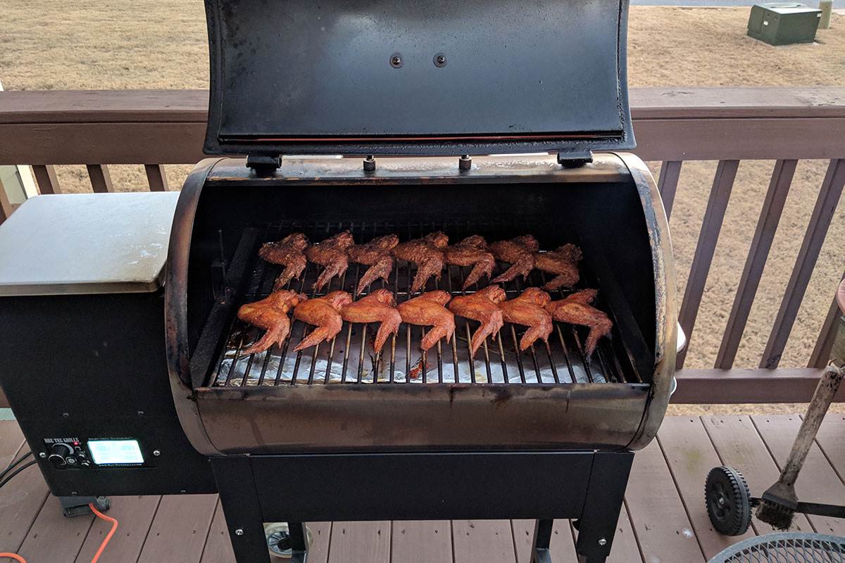
[[[49,454],[53,436],[77,438],[84,453],[88,436],[139,444],[134,464],[41,460],[52,491],[217,490],[238,563],[268,560],[264,522],[288,522],[303,561],[302,522],[456,518],[537,519],[537,561],[550,560],[553,518],[572,518],[581,560],[605,560],[633,452],[661,424],[677,344],[666,216],[646,166],[618,152],[635,144],[627,8],[207,0],[204,150],[219,158],[185,181],[161,278],[117,295],[6,284],[0,384],[30,446]],[[285,344],[243,354],[257,331],[237,308],[268,295],[279,271],[259,246],[341,230],[362,242],[442,230],[453,241],[531,233],[543,249],[575,243],[575,289],[599,291],[613,333],[587,357],[581,328],[557,323],[548,348],[520,352],[523,328],[505,325],[472,358],[476,325],[459,317],[449,344],[423,354],[421,329],[402,325],[374,355],[372,328],[348,323],[330,343],[294,352],[308,330],[294,322]],[[318,272],[309,264],[291,289],[352,290],[363,273],[353,266],[309,293]],[[376,285],[406,300],[412,274],[400,261]],[[427,289],[461,295],[465,276],[450,266]],[[533,272],[504,289],[544,281]],[[51,328],[57,309],[66,317]],[[117,311],[147,320],[127,324]],[[74,353],[81,319],[98,338],[123,330],[108,360]],[[78,360],[72,385],[60,359],[44,369],[33,352],[51,338]],[[137,381],[124,367],[114,381],[118,352],[144,358]],[[35,383],[19,375],[38,366]],[[149,409],[155,423],[145,424]],[[160,450],[163,437],[171,447]]]

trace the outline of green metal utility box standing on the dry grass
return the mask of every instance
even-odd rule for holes
[[[748,35],[769,45],[812,43],[820,18],[820,9],[804,4],[755,4],[748,19]]]

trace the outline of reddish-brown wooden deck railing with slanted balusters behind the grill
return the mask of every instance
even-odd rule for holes
[[[635,153],[662,161],[658,180],[672,213],[687,160],[717,160],[679,322],[695,321],[740,160],[775,160],[714,369],[679,371],[684,403],[807,400],[831,352],[831,309],[807,368],[777,369],[845,185],[845,88],[632,89]],[[95,192],[112,191],[108,165],[144,165],[150,190],[167,187],[162,165],[193,163],[207,113],[203,90],[46,91],[0,94],[0,165],[33,165],[42,193],[61,192],[54,165],[87,165]],[[758,370],[733,362],[799,160],[828,160],[810,223]],[[0,216],[0,220],[3,217]],[[845,252],[843,252],[845,256]],[[843,261],[845,262],[845,261]],[[831,288],[831,297],[836,288]],[[679,356],[679,367],[685,354]],[[765,385],[760,378],[766,377]],[[716,385],[714,385],[716,383]]]

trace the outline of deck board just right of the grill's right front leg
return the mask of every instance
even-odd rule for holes
[[[705,560],[657,441],[634,456],[625,501],[644,560]]]

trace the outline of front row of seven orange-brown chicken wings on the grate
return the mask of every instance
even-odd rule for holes
[[[248,303],[237,311],[237,317],[266,332],[255,344],[243,350],[254,354],[281,344],[290,333],[293,317],[313,325],[314,330],[297,344],[294,351],[328,342],[341,332],[343,322],[379,322],[373,348],[379,353],[390,334],[398,333],[401,322],[431,327],[423,337],[420,348],[428,350],[441,338],[450,342],[455,333],[455,315],[478,321],[481,326],[472,335],[470,347],[474,356],[488,336],[499,333],[504,322],[528,327],[522,335],[520,349],[528,349],[538,338],[548,344],[553,320],[590,328],[586,339],[589,358],[599,338],[610,332],[613,323],[608,316],[590,303],[596,290],[581,290],[565,299],[553,301],[545,291],[528,288],[518,297],[506,300],[499,285],[489,285],[472,295],[452,297],[442,290],[428,291],[398,305],[389,290],[375,290],[359,300],[352,300],[346,291],[332,291],[328,295],[308,299],[291,290],[276,290],[263,300]]]

